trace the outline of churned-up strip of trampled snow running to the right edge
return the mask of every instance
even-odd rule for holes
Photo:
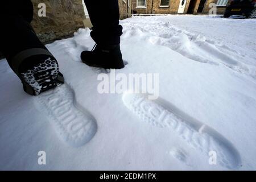
[[[152,22],[152,24],[155,23]],[[200,63],[208,63],[211,65],[222,64],[235,72],[243,73],[253,78],[256,77],[255,68],[241,61],[246,59],[253,61],[251,57],[245,58],[240,52],[228,46],[214,42],[202,35],[180,30],[170,23],[157,22],[153,28],[151,27],[152,24],[143,24],[143,22],[134,23],[134,26],[130,27],[130,30],[127,31],[126,34],[132,35],[136,31],[147,32],[147,30],[151,30],[150,34],[152,37],[147,40],[152,44],[166,46],[173,51],[181,53],[181,55],[188,59]],[[202,53],[205,55],[202,56]]]

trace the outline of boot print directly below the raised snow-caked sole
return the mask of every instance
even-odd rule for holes
[[[96,120],[75,104],[73,90],[67,84],[40,94],[35,104],[51,118],[59,138],[70,146],[80,147],[96,133]]]

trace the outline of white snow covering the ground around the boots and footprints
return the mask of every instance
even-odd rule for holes
[[[94,45],[89,29],[47,45],[66,84],[42,96],[24,93],[1,60],[0,169],[255,170],[256,19],[135,16],[121,24],[129,64],[115,73],[159,73],[158,100],[97,92],[98,73],[111,73],[81,63]]]

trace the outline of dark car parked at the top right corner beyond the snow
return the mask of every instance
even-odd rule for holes
[[[231,15],[243,15],[246,18],[255,18],[256,0],[231,0],[226,7],[225,18]]]

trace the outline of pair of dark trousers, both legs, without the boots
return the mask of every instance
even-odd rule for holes
[[[120,43],[118,0],[84,0],[93,24],[91,36],[100,45]],[[18,53],[32,48],[47,49],[36,36],[30,23],[33,6],[30,0],[0,1],[0,52],[11,61]],[[65,31],[65,30],[64,30]]]

